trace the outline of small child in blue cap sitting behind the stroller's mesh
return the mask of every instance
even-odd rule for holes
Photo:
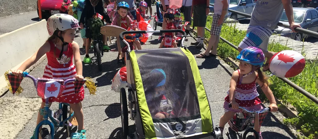
[[[152,81],[145,95],[151,116],[158,119],[190,116],[186,108],[176,110],[181,108],[181,102],[178,101],[179,96],[176,93],[172,93],[174,96],[172,102],[167,98],[166,73],[162,69],[152,70],[148,78]]]

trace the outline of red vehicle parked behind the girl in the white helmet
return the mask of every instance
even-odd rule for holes
[[[51,15],[54,14],[68,14],[68,9],[66,11],[61,10],[62,3],[66,3],[69,5],[71,3],[71,0],[40,0],[41,2],[41,12],[42,12],[42,18],[48,18]],[[38,1],[37,1],[38,5]],[[38,15],[39,15],[39,9],[37,6]]]

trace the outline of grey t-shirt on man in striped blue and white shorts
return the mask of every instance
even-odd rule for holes
[[[277,29],[277,23],[283,15],[281,0],[257,0],[252,12],[251,26],[261,26],[269,30]]]

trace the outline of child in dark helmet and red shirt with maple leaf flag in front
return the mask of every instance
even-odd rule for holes
[[[167,22],[166,30],[174,30],[175,29],[173,25],[174,14],[172,13],[172,11],[166,12],[163,17],[164,17],[164,20]],[[175,39],[176,39],[176,35],[174,32],[165,33],[159,48],[163,48],[163,47],[172,48],[172,46],[174,48],[177,48]]]

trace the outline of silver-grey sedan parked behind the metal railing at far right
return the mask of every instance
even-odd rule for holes
[[[294,21],[300,24],[301,28],[311,30],[314,32],[318,31],[318,10],[312,8],[300,8],[294,7]],[[288,19],[285,13],[283,12],[283,16],[280,19],[281,23],[289,24]],[[280,34],[281,36],[292,38],[296,41],[300,41],[302,38],[308,37],[307,34],[292,33],[292,30],[284,27],[278,27],[278,29],[274,30],[275,34]]]

